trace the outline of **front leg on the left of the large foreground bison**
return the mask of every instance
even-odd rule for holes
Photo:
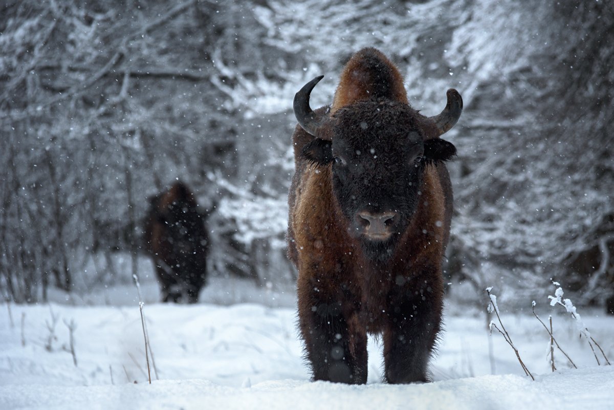
[[[367,334],[354,315],[348,320],[340,301],[301,300],[299,321],[313,380],[367,382]]]

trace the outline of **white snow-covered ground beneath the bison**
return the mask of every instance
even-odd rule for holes
[[[614,367],[597,366],[561,306],[538,301],[553,315],[554,335],[578,369],[555,351],[527,312],[503,324],[535,381],[503,337],[488,335],[484,312],[448,306],[445,333],[432,361],[434,382],[381,383],[381,346],[370,339],[368,384],[309,382],[295,327],[291,286],[213,278],[196,305],[154,303],[141,292],[153,353],[151,385],[136,289],[129,284],[88,295],[51,295],[53,303],[0,305],[0,409],[612,409]],[[64,298],[66,299],[66,298]],[[60,303],[61,302],[61,303]],[[111,305],[107,305],[111,303]],[[527,301],[530,304],[530,301]],[[504,306],[499,306],[505,312]],[[614,318],[580,309],[591,335],[614,358]],[[74,331],[74,364],[69,327]],[[603,362],[603,360],[602,360]]]

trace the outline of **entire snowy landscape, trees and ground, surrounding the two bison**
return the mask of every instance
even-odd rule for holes
[[[427,384],[371,336],[367,386],[310,382],[297,333],[292,101],[363,47],[422,114],[464,101]],[[0,409],[611,408],[613,67],[608,0],[0,1]],[[189,305],[146,246],[179,181]]]

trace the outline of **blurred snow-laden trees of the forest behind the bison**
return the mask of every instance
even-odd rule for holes
[[[614,294],[612,2],[27,0],[1,15],[7,300],[119,280],[118,253],[138,274],[147,198],[175,180],[214,209],[213,275],[293,280],[292,97],[324,74],[313,104],[329,104],[367,46],[425,114],[447,88],[464,99],[449,293],[553,279],[583,304]]]

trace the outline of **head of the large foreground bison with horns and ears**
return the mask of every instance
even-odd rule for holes
[[[456,147],[438,136],[459,118],[461,96],[449,90],[446,109],[430,118],[387,98],[358,101],[317,117],[309,94],[321,78],[295,96],[299,125],[316,137],[301,155],[318,166],[332,166],[333,193],[349,233],[361,242],[365,256],[386,261],[418,208],[426,167],[456,155]]]

